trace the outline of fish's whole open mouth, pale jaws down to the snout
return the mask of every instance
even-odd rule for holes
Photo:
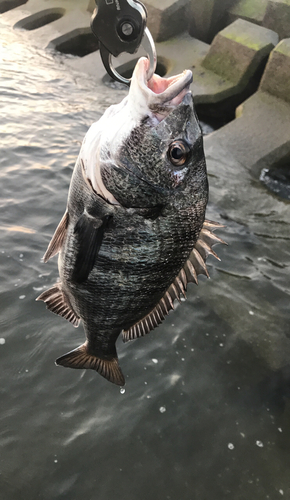
[[[154,74],[148,81],[149,60],[141,57],[135,67],[129,99],[139,104],[140,111],[149,109],[151,113],[161,121],[173,108],[183,101],[186,94],[190,92],[192,83],[192,72],[185,70],[179,75],[163,78]],[[147,112],[148,114],[148,112]]]

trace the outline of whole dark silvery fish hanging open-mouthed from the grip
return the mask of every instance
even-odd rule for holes
[[[43,257],[59,254],[59,280],[36,300],[78,327],[85,342],[56,364],[92,369],[123,386],[116,340],[159,326],[187,285],[208,276],[214,234],[206,220],[203,137],[192,73],[148,81],[138,60],[128,95],[89,128],[67,207]]]

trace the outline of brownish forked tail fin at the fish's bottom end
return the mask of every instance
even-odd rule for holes
[[[109,382],[117,385],[125,385],[125,378],[118,364],[118,358],[111,360],[101,359],[94,354],[89,354],[87,344],[83,344],[77,349],[64,354],[56,360],[56,365],[68,368],[96,370]]]

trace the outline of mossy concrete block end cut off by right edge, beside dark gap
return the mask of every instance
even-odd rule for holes
[[[290,38],[282,40],[271,53],[260,90],[290,103]]]

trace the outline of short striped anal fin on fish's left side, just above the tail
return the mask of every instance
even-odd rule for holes
[[[70,321],[75,327],[79,326],[80,318],[73,310],[67,296],[61,289],[61,284],[56,283],[53,287],[45,290],[36,300],[43,300],[47,309],[54,314],[62,316]]]

